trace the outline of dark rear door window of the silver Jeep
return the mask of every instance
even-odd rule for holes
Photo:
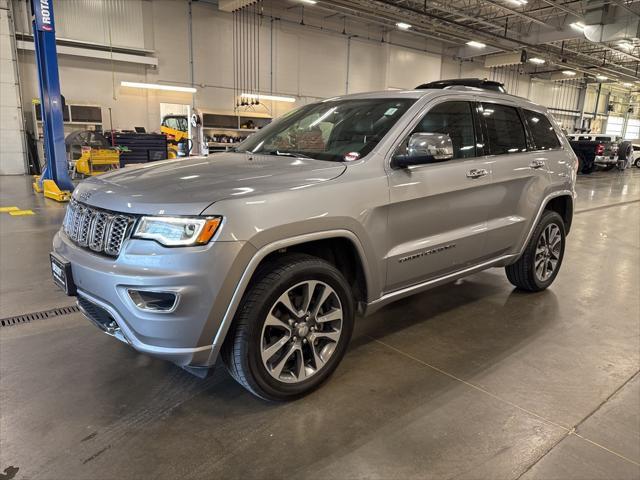
[[[482,115],[487,126],[489,154],[503,155],[527,150],[524,125],[516,108],[483,103]]]

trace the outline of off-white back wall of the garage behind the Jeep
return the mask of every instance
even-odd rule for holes
[[[193,3],[194,83],[198,92],[192,97],[190,94],[120,87],[123,80],[190,85],[188,2],[111,0],[111,6],[107,8],[101,6],[104,1],[70,0],[67,4],[57,0],[56,22],[60,31],[67,38],[104,43],[105,34],[111,29],[114,45],[129,42],[131,47],[152,50],[158,58],[158,67],[61,55],[62,93],[68,103],[101,105],[105,128],[109,128],[108,109],[111,108],[114,128],[143,126],[148,131],[159,128],[160,103],[193,102],[205,111],[233,110],[231,14],[219,11],[211,3]],[[26,10],[25,2],[14,0],[16,4]],[[91,13],[83,13],[83,8],[103,13],[114,10],[111,12],[113,19],[120,18],[125,26],[116,28],[113,21],[105,23],[102,16],[100,20],[92,20],[91,28],[80,28],[84,13]],[[74,9],[73,14],[69,13],[70,9]],[[275,13],[274,16],[282,17]],[[27,17],[23,11],[17,19],[23,30],[29,25]],[[499,80],[500,75],[508,76],[511,93],[528,96],[533,91],[540,103],[552,106],[549,104],[554,98],[551,84],[540,90],[533,88],[527,75],[488,70],[480,63],[444,57],[442,45],[430,39],[403,32],[387,32],[381,36],[364,24],[351,22],[345,27],[339,18],[333,20],[336,23],[331,21],[305,16],[303,26],[291,18],[263,19],[260,26],[260,90],[295,96],[297,101],[294,104],[268,102],[257,107],[258,111],[279,116],[296,106],[345,93],[413,88],[440,78]],[[341,33],[343,27],[348,35]],[[33,52],[19,52],[25,105],[38,97],[34,60]]]

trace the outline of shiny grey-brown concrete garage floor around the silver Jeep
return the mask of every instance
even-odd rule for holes
[[[0,318],[71,304],[63,206],[0,178]],[[335,375],[265,404],[80,314],[0,328],[0,478],[640,478],[640,170],[579,179],[547,291],[483,272],[361,321]]]

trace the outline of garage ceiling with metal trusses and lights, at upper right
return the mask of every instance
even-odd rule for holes
[[[298,2],[300,3],[300,2]],[[309,2],[306,4],[308,6]],[[442,42],[462,59],[525,49],[529,73],[573,69],[588,79],[640,79],[640,2],[622,0],[318,0],[313,6]],[[587,37],[592,40],[587,39]],[[596,41],[593,41],[593,39]],[[484,48],[467,46],[469,40]]]

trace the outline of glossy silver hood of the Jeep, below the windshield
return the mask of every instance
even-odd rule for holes
[[[343,164],[297,157],[219,153],[126,167],[91,177],[76,200],[146,215],[198,215],[225,198],[308,187],[340,176]]]

